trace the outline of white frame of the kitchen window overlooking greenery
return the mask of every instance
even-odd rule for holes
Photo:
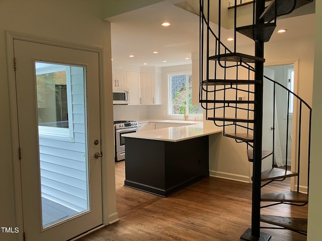
[[[188,88],[188,83],[189,83],[189,78],[188,76],[191,75],[192,76],[192,71],[177,71],[177,72],[171,72],[171,73],[167,73],[168,76],[168,115],[169,116],[183,116],[184,114],[174,114],[172,113],[172,97],[171,97],[171,76],[173,75],[183,75],[185,74],[187,76],[186,78],[186,86]],[[189,113],[189,91],[186,91],[186,114],[190,115],[190,116],[203,116],[203,113]]]

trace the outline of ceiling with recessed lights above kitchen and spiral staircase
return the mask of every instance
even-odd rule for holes
[[[167,0],[105,19],[111,22],[113,64],[164,67],[191,63],[191,53],[199,52],[199,17],[174,2],[178,1]],[[163,22],[172,25],[163,27]],[[271,41],[314,34],[314,14],[278,20],[277,24]],[[288,31],[277,34],[280,28]],[[221,33],[223,40],[233,37],[233,30],[222,29]],[[231,42],[224,42],[233,48]],[[242,35],[237,36],[237,42],[254,43]]]

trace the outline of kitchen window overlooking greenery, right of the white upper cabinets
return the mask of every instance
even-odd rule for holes
[[[180,73],[169,75],[170,114],[202,114],[200,105],[192,104],[192,75]]]

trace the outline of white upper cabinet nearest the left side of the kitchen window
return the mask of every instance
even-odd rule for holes
[[[161,104],[161,73],[141,73],[141,104]]]

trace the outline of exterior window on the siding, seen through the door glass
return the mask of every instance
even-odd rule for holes
[[[39,137],[72,141],[71,81],[68,65],[36,62]]]

